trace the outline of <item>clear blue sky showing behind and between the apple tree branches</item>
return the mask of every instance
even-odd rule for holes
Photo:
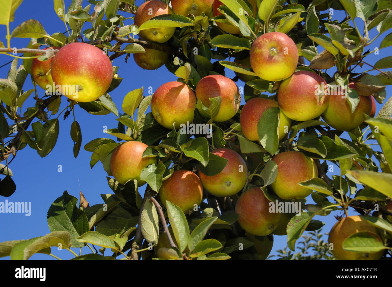
[[[143,1],[137,0],[136,4],[140,5]],[[45,4],[43,4],[45,3]],[[68,7],[71,0],[65,0],[65,7]],[[85,7],[87,1],[83,1],[83,7]],[[343,19],[343,13],[341,11],[334,11],[333,19]],[[124,16],[129,17],[130,14],[122,13]],[[53,1],[46,0],[40,2],[37,5],[36,1],[24,1],[22,5],[16,10],[15,21],[10,24],[10,30],[24,22],[25,20],[36,19],[43,24],[45,30],[49,34],[54,32],[64,32],[64,23],[56,16],[53,9]],[[358,19],[358,18],[357,18]],[[132,20],[125,21],[125,24],[131,24]],[[361,23],[360,19],[357,21]],[[361,26],[361,25],[360,25]],[[89,23],[85,23],[83,29],[87,29]],[[376,35],[376,29],[370,32],[370,36],[374,37]],[[389,31],[390,32],[390,31]],[[384,33],[384,37],[388,32]],[[5,35],[6,29],[4,25],[0,26],[0,40],[6,42]],[[369,49],[373,50],[374,47],[379,47],[383,37],[379,37]],[[30,39],[27,38],[14,38],[11,40],[11,47],[26,47]],[[387,49],[381,49],[378,55],[370,55],[367,57],[368,63],[375,63],[377,60],[389,56]],[[319,48],[320,52],[320,48]],[[129,57],[128,63],[124,62],[125,56],[117,58],[113,61],[113,65],[120,66],[118,74],[124,78],[121,85],[112,91],[110,96],[116,103],[118,109],[121,111],[122,99],[127,94],[127,92],[134,90],[136,88],[144,87],[145,93],[147,93],[148,87],[152,87],[156,90],[160,85],[168,81],[176,81],[176,76],[169,72],[164,66],[158,70],[143,70],[138,67],[132,56]],[[0,66],[13,58],[9,56],[0,55]],[[22,60],[19,60],[18,65],[22,64]],[[6,78],[7,72],[10,65],[0,68],[0,78]],[[366,68],[368,70],[368,68]],[[329,74],[332,75],[334,71],[328,70]],[[370,74],[377,74],[378,72],[370,72]],[[234,72],[226,69],[226,76],[233,78]],[[244,83],[239,81],[238,86],[243,86]],[[33,85],[29,79],[26,80],[24,85],[24,90],[33,88]],[[44,90],[39,89],[40,96],[43,96]],[[387,94],[391,92],[390,86],[387,86]],[[147,96],[147,94],[145,94]],[[389,96],[388,96],[389,97]],[[242,99],[241,104],[245,102]],[[33,106],[34,101],[28,99],[24,107]],[[65,100],[62,99],[62,104],[60,110],[65,107]],[[380,110],[381,105],[377,104],[376,114]],[[103,127],[116,128],[117,121],[114,114],[109,114],[106,116],[93,116],[76,106],[75,109],[76,120],[79,122],[82,130],[82,148],[76,159],[73,156],[73,141],[70,137],[70,128],[73,118],[68,117],[65,121],[60,117],[60,134],[58,136],[57,144],[53,151],[49,153],[44,158],[41,158],[35,150],[32,150],[28,146],[18,152],[15,160],[11,163],[10,168],[14,173],[13,180],[16,183],[16,192],[9,198],[9,201],[13,202],[31,202],[32,213],[30,217],[26,217],[24,214],[17,213],[0,213],[0,242],[7,240],[18,240],[18,239],[29,239],[36,236],[43,236],[50,233],[46,222],[47,210],[51,203],[62,195],[62,193],[67,190],[69,194],[79,197],[79,190],[81,190],[86,199],[91,205],[102,203],[100,197],[101,193],[112,193],[109,186],[107,185],[106,176],[107,173],[103,170],[102,164],[98,162],[93,169],[90,169],[90,156],[91,152],[83,150],[83,146],[91,141],[92,139],[98,137],[111,137],[108,134],[103,133]],[[345,133],[345,137],[348,134]],[[115,139],[113,137],[113,139]],[[58,165],[62,165],[62,172],[58,172]],[[335,166],[335,171],[337,168]],[[331,173],[328,173],[331,177]],[[3,177],[3,176],[1,176]],[[79,187],[79,182],[80,187]],[[141,188],[140,192],[143,193],[144,187]],[[0,201],[5,201],[4,197],[0,198]],[[310,197],[308,198],[308,203],[312,203]],[[337,215],[337,213],[335,213]],[[327,232],[331,229],[333,224],[336,222],[335,218],[330,215],[328,217],[316,217],[315,219],[322,220],[326,223],[323,227],[323,231]],[[327,238],[324,238],[327,240]],[[287,236],[274,236],[274,247],[273,250],[283,249],[287,243]],[[88,247],[83,248],[84,253],[91,253]],[[62,259],[72,258],[73,255],[69,251],[57,251],[52,250],[52,253],[59,256]],[[106,255],[111,255],[111,253],[106,253]],[[2,258],[8,260],[9,257]],[[35,260],[51,260],[54,259],[48,255],[33,255],[32,259]]]

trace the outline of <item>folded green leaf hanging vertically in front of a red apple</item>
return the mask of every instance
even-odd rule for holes
[[[258,124],[257,132],[260,144],[270,154],[274,154],[278,149],[278,126],[279,126],[279,108],[268,108],[263,112]]]

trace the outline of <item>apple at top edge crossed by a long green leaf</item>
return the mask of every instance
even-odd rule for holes
[[[151,18],[164,14],[173,14],[173,10],[163,1],[151,0],[139,6],[135,14],[134,24],[138,27]],[[160,27],[145,29],[139,32],[139,37],[158,43],[167,42],[176,31],[175,27]]]

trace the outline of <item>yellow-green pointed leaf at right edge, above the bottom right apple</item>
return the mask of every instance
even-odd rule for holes
[[[349,170],[347,173],[387,197],[392,197],[392,174],[367,170]]]

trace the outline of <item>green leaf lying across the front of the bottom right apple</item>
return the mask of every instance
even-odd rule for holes
[[[384,249],[388,249],[384,246],[381,238],[374,233],[370,232],[358,232],[348,236],[343,241],[343,250],[361,252],[361,253],[374,253]]]

